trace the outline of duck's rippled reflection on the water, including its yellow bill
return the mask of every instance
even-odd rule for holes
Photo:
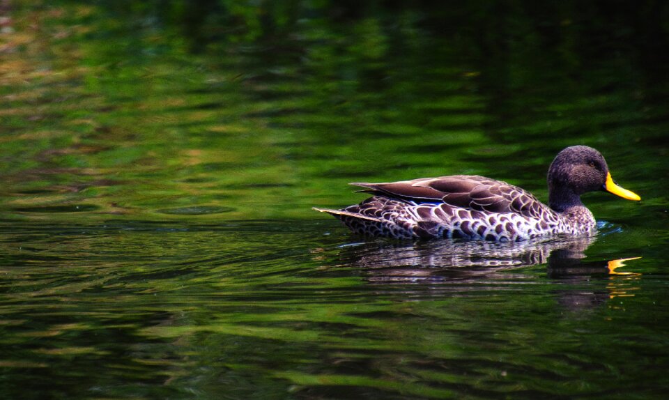
[[[597,236],[525,243],[377,241],[345,247],[341,256],[347,266],[364,270],[368,282],[374,284],[476,284],[479,289],[485,289],[482,286],[486,284],[499,287],[499,284],[535,282],[536,276],[522,267],[546,264],[547,275],[554,280],[578,284],[590,283],[595,278],[595,282],[602,282],[589,284],[586,286],[589,289],[583,291],[574,289],[576,286],[564,291],[558,289],[558,301],[562,305],[582,308],[615,296],[633,295],[630,279],[640,275],[622,269],[626,261],[638,257],[587,260],[585,250],[596,240]],[[499,273],[501,271],[504,273]]]

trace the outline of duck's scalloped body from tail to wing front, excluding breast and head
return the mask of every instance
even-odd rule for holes
[[[322,210],[356,233],[393,238],[526,240],[564,231],[564,222],[529,192],[483,176],[352,183],[374,197]]]

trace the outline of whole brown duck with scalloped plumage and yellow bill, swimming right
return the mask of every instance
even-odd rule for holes
[[[351,183],[372,194],[359,204],[314,210],[337,217],[353,233],[397,239],[520,242],[549,236],[593,236],[597,223],[581,194],[603,190],[640,201],[620,187],[606,160],[588,146],[557,153],[548,168],[548,204],[521,187],[477,175],[388,183]]]

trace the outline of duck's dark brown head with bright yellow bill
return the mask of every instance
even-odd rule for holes
[[[637,194],[618,186],[611,178],[603,155],[592,147],[571,146],[557,153],[548,168],[548,202],[560,210],[580,203],[585,192],[605,190],[623,199],[639,201]]]

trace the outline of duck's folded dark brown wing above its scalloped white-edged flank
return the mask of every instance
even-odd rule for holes
[[[362,192],[414,203],[445,203],[489,213],[516,213],[541,217],[548,206],[530,192],[500,180],[483,176],[455,175],[421,178],[391,183],[351,183]]]

